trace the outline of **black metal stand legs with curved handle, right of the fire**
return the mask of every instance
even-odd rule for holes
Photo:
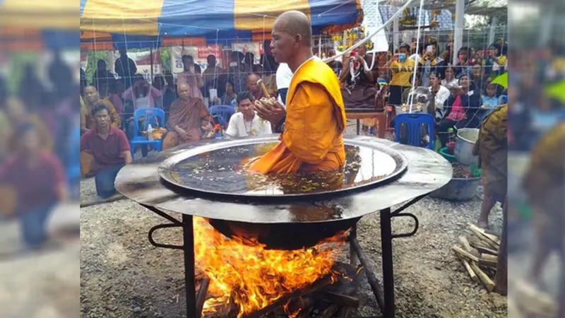
[[[409,201],[398,210],[391,212],[391,208],[386,208],[380,211],[381,218],[381,259],[383,266],[383,289],[379,279],[376,278],[371,266],[369,266],[369,259],[365,257],[359,242],[357,241],[357,225],[351,229],[349,236],[350,242],[350,263],[356,265],[355,258],[359,259],[359,263],[365,268],[367,281],[371,286],[371,290],[375,295],[376,303],[379,305],[383,318],[394,318],[395,305],[394,305],[394,269],[393,269],[393,239],[398,237],[410,237],[415,235],[420,223],[418,218],[412,213],[402,213],[405,208],[408,208],[417,201],[420,201],[424,196],[419,196]],[[414,230],[409,233],[393,234],[392,233],[392,218],[408,217],[415,221]]]

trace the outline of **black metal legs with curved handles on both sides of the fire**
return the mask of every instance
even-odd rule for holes
[[[393,318],[395,307],[394,307],[394,276],[393,276],[393,249],[392,240],[398,237],[410,237],[415,235],[418,230],[418,219],[412,213],[402,213],[405,208],[415,204],[420,201],[424,196],[419,196],[412,201],[409,201],[404,206],[398,208],[398,210],[391,212],[391,208],[386,208],[381,211],[381,246],[382,246],[382,264],[383,264],[383,289],[381,290],[381,284],[379,279],[376,278],[371,267],[369,266],[369,259],[365,257],[359,242],[357,241],[357,225],[355,225],[350,232],[348,237],[350,242],[350,264],[355,265],[356,259],[359,259],[359,263],[365,268],[365,273],[367,275],[367,281],[371,285],[371,290],[375,295],[379,309],[383,313],[381,316],[373,317],[384,317]],[[202,315],[202,304],[198,304],[196,300],[196,278],[195,278],[195,259],[194,259],[194,228],[192,223],[192,216],[183,214],[182,221],[169,216],[167,213],[154,208],[153,206],[146,206],[142,204],[143,207],[148,208],[162,218],[166,218],[171,223],[155,225],[148,232],[148,240],[151,245],[155,247],[162,247],[166,249],[180,249],[184,252],[184,285],[186,287],[186,317],[187,318],[200,318]],[[409,217],[415,220],[414,230],[410,233],[393,234],[391,219],[396,217]],[[183,232],[183,245],[166,245],[155,242],[153,239],[153,233],[156,230],[163,228],[182,228]],[[208,288],[207,285],[201,285],[201,288]],[[199,293],[201,294],[201,293]],[[201,297],[199,297],[201,298]]]

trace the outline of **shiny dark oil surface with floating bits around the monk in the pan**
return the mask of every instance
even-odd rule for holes
[[[396,161],[379,150],[345,146],[345,167],[340,171],[290,175],[261,175],[247,171],[252,158],[275,143],[262,143],[201,153],[173,165],[170,176],[189,189],[223,194],[280,196],[314,194],[374,184],[396,169]]]

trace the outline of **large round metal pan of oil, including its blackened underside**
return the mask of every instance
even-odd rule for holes
[[[392,148],[346,141],[347,163],[342,172],[302,177],[247,174],[246,161],[261,155],[273,141],[246,139],[192,148],[164,160],[158,172],[174,192],[209,199],[246,201],[250,205],[265,201],[325,199],[326,204],[296,205],[289,211],[295,218],[304,218],[304,222],[248,223],[209,219],[210,224],[227,237],[254,239],[273,249],[299,249],[347,230],[360,219],[342,218],[341,207],[332,205],[328,199],[391,182],[408,166],[405,157]]]

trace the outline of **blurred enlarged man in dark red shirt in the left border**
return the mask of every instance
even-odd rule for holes
[[[47,235],[45,223],[52,208],[66,200],[63,167],[52,153],[44,151],[32,123],[16,126],[13,140],[16,152],[0,167],[0,185],[15,196],[11,211],[20,219],[23,241],[30,249],[41,247]],[[1,200],[10,200],[0,193]]]

